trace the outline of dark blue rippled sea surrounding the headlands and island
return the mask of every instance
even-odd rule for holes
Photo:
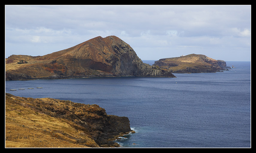
[[[109,115],[126,116],[136,133],[115,141],[125,148],[250,148],[251,62],[226,63],[235,68],[176,78],[5,81],[5,92],[98,104]]]

